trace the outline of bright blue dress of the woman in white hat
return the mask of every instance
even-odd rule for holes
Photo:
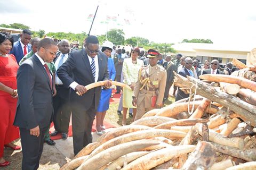
[[[108,57],[108,73],[109,73],[109,79],[115,80],[115,77],[116,77],[115,64],[111,57]],[[112,89],[101,90],[100,101],[99,101],[97,112],[104,112],[108,110],[111,92],[112,92]]]

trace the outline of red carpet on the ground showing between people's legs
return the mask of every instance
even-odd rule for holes
[[[109,102],[110,104],[114,104],[114,103],[119,103],[119,99],[121,94],[115,94],[116,90],[113,89],[113,98],[110,98]],[[111,106],[110,106],[111,107]],[[92,125],[92,132],[96,131],[96,120],[93,121],[93,125]],[[104,121],[103,124],[105,125],[105,127],[108,128],[116,128],[116,126],[111,125],[110,123]],[[54,131],[54,125],[53,123],[51,123],[51,128],[50,128],[50,134]],[[70,122],[69,122],[69,128],[68,128],[68,137],[72,137],[72,122],[71,122],[71,118],[70,118]],[[58,135],[51,137],[52,140],[57,140],[57,139],[61,139],[61,134],[59,133]]]

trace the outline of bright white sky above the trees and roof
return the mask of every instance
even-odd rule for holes
[[[46,33],[88,33],[91,21],[87,18],[97,5],[91,35],[116,28],[124,30],[125,38],[139,36],[156,43],[198,38],[218,45],[256,46],[254,0],[0,0],[0,24],[23,23]],[[116,16],[117,21],[101,23],[107,16]]]

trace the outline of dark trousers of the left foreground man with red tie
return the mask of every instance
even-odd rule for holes
[[[50,125],[50,124],[49,124]],[[43,152],[44,134],[48,129],[40,128],[40,135],[30,135],[30,131],[20,128],[20,139],[22,146],[22,170],[36,170],[39,167],[39,160]]]

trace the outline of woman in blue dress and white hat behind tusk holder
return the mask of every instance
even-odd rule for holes
[[[115,80],[116,77],[116,70],[114,61],[111,58],[111,52],[113,50],[113,43],[110,41],[103,41],[101,51],[106,54],[108,57],[108,73],[109,79]],[[109,108],[109,99],[111,96],[112,89],[102,89],[100,95],[100,102],[98,106],[98,110],[96,113],[96,130],[98,135],[102,135],[102,130],[105,130],[105,126],[103,125],[103,120],[105,118],[106,112]]]

